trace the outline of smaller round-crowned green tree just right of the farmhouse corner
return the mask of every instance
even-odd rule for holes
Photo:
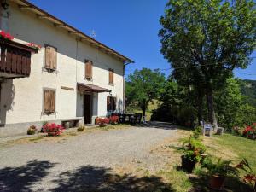
[[[165,82],[165,75],[159,70],[143,68],[135,70],[125,81],[125,96],[127,104],[137,105],[143,110],[145,117],[148,103],[160,96],[160,91]]]

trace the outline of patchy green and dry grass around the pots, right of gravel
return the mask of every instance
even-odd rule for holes
[[[192,174],[187,174],[180,168],[180,141],[184,137],[189,137],[189,134],[191,134],[191,131],[184,129],[177,130],[177,139],[168,141],[158,149],[162,156],[165,156],[166,153],[169,154],[170,161],[166,162],[165,169],[160,169],[158,172],[150,172],[150,174],[161,177],[166,183],[169,183],[176,192],[211,191],[208,188],[209,176],[207,175],[207,171],[202,169],[201,166],[196,166]],[[224,134],[223,136],[203,137],[203,143],[207,146],[207,153],[213,158],[232,160],[233,166],[238,164],[242,158],[246,158],[256,171],[256,141]],[[154,155],[154,153],[154,150],[149,152],[149,154],[152,155]],[[146,175],[150,174],[147,172]],[[241,176],[243,176],[242,172]],[[224,191],[249,192],[251,189],[242,183],[239,177],[229,176],[226,179]]]

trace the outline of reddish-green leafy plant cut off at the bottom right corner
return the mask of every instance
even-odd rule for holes
[[[241,169],[246,173],[246,175],[243,177],[243,181],[251,185],[253,191],[256,192],[256,172],[253,171],[248,161],[246,159],[241,160],[236,168]]]

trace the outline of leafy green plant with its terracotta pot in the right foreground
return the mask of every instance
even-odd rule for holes
[[[210,173],[210,188],[214,190],[224,189],[224,181],[228,174],[236,174],[236,168],[230,166],[231,160],[218,159],[216,163],[211,158],[204,160],[203,166]]]

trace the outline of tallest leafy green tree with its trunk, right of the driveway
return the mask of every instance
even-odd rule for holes
[[[213,92],[224,87],[233,69],[250,64],[256,46],[255,20],[252,0],[170,0],[160,17],[161,53],[177,80],[186,73],[191,84],[204,91],[215,130]]]

